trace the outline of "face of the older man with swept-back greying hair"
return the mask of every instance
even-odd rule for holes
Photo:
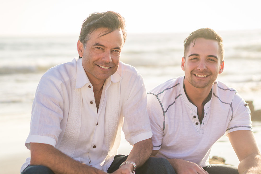
[[[86,48],[78,41],[82,66],[91,83],[104,82],[118,69],[123,46],[122,31],[118,29],[103,35],[107,31],[107,28],[98,28],[89,34]]]

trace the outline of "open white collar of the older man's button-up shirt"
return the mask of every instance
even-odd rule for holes
[[[121,62],[120,62],[120,64],[121,64]],[[113,83],[119,82],[122,78],[121,78],[120,74],[118,73],[118,70],[116,71],[116,73],[112,74],[106,81],[112,81]],[[86,72],[85,72],[85,70],[82,66],[82,58],[79,58],[77,60],[76,86],[75,86],[75,88],[76,89],[81,88],[86,83],[90,83],[90,80],[88,79],[88,76],[86,75]]]

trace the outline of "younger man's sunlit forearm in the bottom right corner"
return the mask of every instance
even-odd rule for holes
[[[261,172],[261,155],[251,154],[243,159],[238,165],[238,172],[241,173],[260,173]]]

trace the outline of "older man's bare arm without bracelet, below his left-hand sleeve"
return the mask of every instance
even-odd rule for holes
[[[75,161],[51,145],[31,143],[31,165],[43,165],[54,173],[98,173],[105,172]]]

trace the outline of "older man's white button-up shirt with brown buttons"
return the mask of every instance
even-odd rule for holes
[[[120,145],[121,128],[131,145],[152,137],[146,103],[141,75],[120,62],[104,83],[97,113],[82,59],[73,59],[41,78],[26,147],[30,149],[31,142],[49,144],[74,160],[107,172]],[[21,172],[29,163],[27,158]]]

